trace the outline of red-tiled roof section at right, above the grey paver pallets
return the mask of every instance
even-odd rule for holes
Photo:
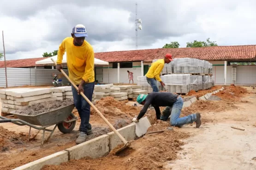
[[[173,54],[173,58],[194,58],[208,61],[256,60],[256,45],[160,48],[155,55],[149,56],[144,61],[152,62],[153,59],[162,59],[166,53]]]

